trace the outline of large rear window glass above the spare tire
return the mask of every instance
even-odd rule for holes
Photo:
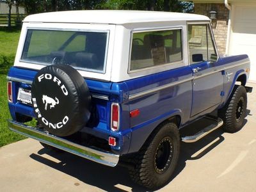
[[[21,60],[104,72],[108,32],[28,29]]]

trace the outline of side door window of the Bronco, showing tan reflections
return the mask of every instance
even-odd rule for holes
[[[211,31],[207,24],[188,25],[189,60],[191,64],[202,61],[216,61]]]

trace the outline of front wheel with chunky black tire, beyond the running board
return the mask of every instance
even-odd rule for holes
[[[236,85],[227,104],[220,109],[219,116],[223,120],[223,130],[237,132],[244,125],[246,116],[247,94],[244,86]]]

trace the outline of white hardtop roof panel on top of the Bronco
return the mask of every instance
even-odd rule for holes
[[[127,10],[83,10],[49,12],[29,15],[24,22],[65,22],[131,24],[138,22],[161,22],[174,20],[210,20],[204,15],[174,12],[127,11]]]

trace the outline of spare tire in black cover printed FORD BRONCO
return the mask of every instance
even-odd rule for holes
[[[42,68],[35,76],[31,95],[38,122],[56,136],[79,131],[90,118],[88,86],[69,65]]]

